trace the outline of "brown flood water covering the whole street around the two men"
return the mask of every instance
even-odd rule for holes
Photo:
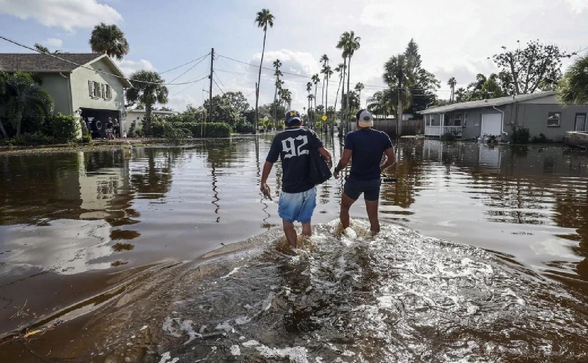
[[[402,139],[292,250],[270,142],[0,154],[0,361],[588,361],[586,152]]]

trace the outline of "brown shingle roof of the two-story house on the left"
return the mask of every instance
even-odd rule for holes
[[[99,58],[98,53],[64,53],[59,58],[84,65]],[[75,64],[61,61],[40,53],[0,53],[0,71],[6,72],[71,72],[78,68]]]

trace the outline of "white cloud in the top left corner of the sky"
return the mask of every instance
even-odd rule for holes
[[[0,0],[0,13],[32,18],[42,25],[67,31],[92,28],[101,21],[113,24],[122,20],[122,15],[112,6],[96,0]]]

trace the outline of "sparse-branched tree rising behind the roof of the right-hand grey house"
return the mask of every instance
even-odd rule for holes
[[[557,45],[527,42],[514,51],[502,46],[503,52],[492,56],[498,68],[510,75],[515,94],[532,94],[537,88],[556,84],[562,76],[562,58],[571,54],[560,51]]]

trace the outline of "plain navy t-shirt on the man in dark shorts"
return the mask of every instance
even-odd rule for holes
[[[345,148],[353,150],[349,176],[356,180],[380,178],[384,151],[392,147],[390,136],[374,129],[359,129],[345,136]]]

